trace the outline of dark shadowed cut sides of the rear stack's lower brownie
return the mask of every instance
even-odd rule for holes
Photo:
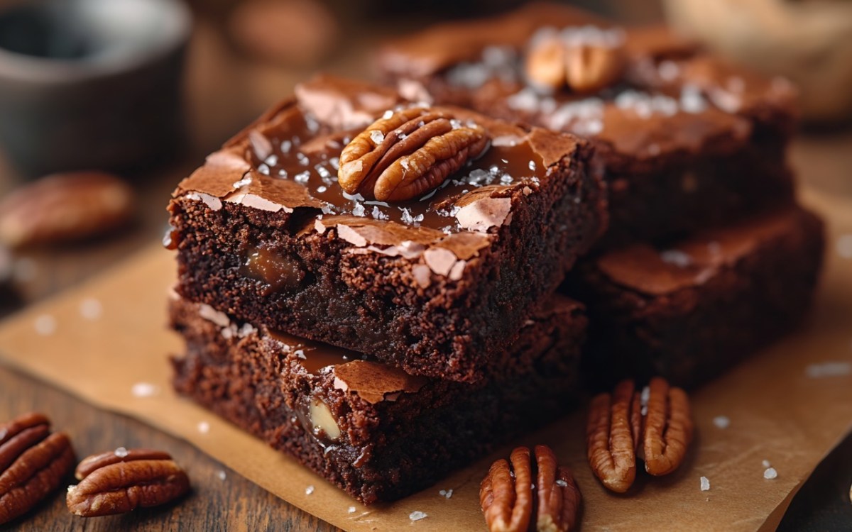
[[[648,295],[579,265],[563,291],[589,307],[584,379],[607,387],[625,376],[663,375],[699,386],[795,330],[819,279],[822,221],[798,209],[791,230],[760,243],[705,280]],[[613,371],[613,369],[619,369]]]

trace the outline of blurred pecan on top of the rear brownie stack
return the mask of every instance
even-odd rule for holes
[[[557,36],[541,39],[527,53],[527,79],[550,88],[590,93],[617,82],[625,69],[622,46],[566,41]]]

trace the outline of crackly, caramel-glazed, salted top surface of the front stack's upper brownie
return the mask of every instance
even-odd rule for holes
[[[344,148],[359,134],[376,149],[391,134],[398,143],[417,134],[417,126],[423,126],[417,116],[407,135],[402,128],[376,129],[394,113],[417,115],[417,106],[424,116],[446,117],[450,135],[475,129],[482,140],[436,145],[449,146],[451,155],[468,146],[469,154],[458,169],[414,197],[382,201],[370,190],[343,190],[338,169]],[[451,251],[455,257],[446,260],[439,260],[440,252],[430,254],[431,262],[440,262],[432,268],[437,271],[490,245],[497,229],[511,223],[515,204],[537,193],[563,159],[568,164],[560,171],[567,171],[582,143],[568,134],[521,129],[461,108],[412,104],[393,90],[367,83],[318,77],[207,157],[175,196],[204,201],[210,209],[221,209],[223,202],[282,215],[300,209],[308,215],[297,218],[296,232],[322,233],[336,226],[349,243],[386,255],[412,258],[430,247]],[[417,163],[403,159],[397,161],[404,167],[397,168],[399,174],[409,170],[409,161]]]

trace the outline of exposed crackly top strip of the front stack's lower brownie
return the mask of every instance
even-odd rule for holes
[[[200,318],[215,324],[227,340],[258,335],[266,341],[275,342],[275,349],[280,350],[286,358],[295,361],[301,367],[300,371],[304,370],[309,375],[331,374],[333,386],[336,389],[352,392],[367,403],[395,401],[400,393],[416,393],[429,383],[427,377],[409,375],[402,369],[371,360],[369,355],[297,338],[267,327],[256,329],[248,323],[240,325],[212,306],[191,303],[176,294],[171,296],[177,305],[195,309],[190,312],[198,312]],[[575,313],[581,308],[583,305],[575,300],[553,295],[544,306],[544,310],[539,311],[525,327],[554,318],[565,322],[573,319]]]

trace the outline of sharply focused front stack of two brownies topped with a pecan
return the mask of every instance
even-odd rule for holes
[[[449,132],[436,144],[432,126]],[[422,150],[400,146],[421,137],[445,158],[412,197],[338,181],[370,154],[408,175]],[[174,193],[176,389],[366,503],[552,419],[577,395],[586,329],[555,291],[607,221],[591,157],[571,134],[303,83]]]

